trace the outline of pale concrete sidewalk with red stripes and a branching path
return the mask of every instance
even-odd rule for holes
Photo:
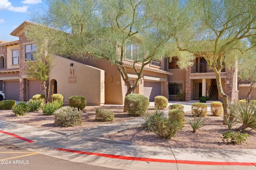
[[[185,111],[191,110],[192,102],[175,103],[184,105]],[[141,121],[141,118],[133,119],[62,135],[0,120],[0,141],[64,160],[127,170],[256,169],[255,149],[149,147],[100,138],[136,126]]]

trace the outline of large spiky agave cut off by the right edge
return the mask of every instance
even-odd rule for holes
[[[242,123],[241,130],[248,127],[256,130],[256,103],[234,102],[229,106],[229,109],[232,111],[232,115],[236,121]]]

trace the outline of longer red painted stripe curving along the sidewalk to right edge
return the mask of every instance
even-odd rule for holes
[[[119,156],[113,154],[102,154],[95,152],[84,152],[79,150],[70,150],[56,148],[56,150],[62,150],[66,152],[73,152],[78,154],[88,154],[94,156],[104,156],[107,158],[123,159],[123,160],[137,160],[137,161],[147,161],[147,162],[165,162],[165,163],[177,163],[177,164],[196,164],[196,165],[240,165],[240,166],[255,166],[256,163],[250,162],[208,162],[208,161],[192,161],[192,160],[168,160],[168,159],[154,159],[154,158],[139,158],[131,156]]]

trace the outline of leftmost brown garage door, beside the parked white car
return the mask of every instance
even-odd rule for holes
[[[5,100],[20,100],[20,82],[4,82]]]

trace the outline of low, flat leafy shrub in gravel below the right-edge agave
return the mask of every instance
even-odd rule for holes
[[[234,131],[226,131],[222,133],[222,141],[224,143],[232,143],[232,144],[239,144],[246,141],[247,137],[250,137],[250,135],[241,133],[240,131],[234,132]]]

